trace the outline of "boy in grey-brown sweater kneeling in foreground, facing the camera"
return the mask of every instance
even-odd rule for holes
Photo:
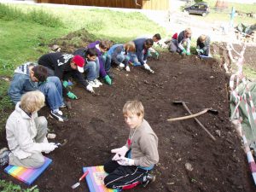
[[[104,165],[105,172],[109,173],[104,183],[112,189],[131,189],[154,182],[155,177],[148,173],[159,161],[158,137],[143,119],[142,102],[126,102],[123,113],[130,128],[129,137],[125,146],[111,150],[115,155]]]

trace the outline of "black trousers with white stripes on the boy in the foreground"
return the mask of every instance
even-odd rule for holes
[[[117,161],[109,160],[104,165],[108,176],[104,178],[107,188],[111,189],[129,189],[129,186],[135,187],[137,184],[146,181],[148,170],[143,170],[137,166],[120,166]]]

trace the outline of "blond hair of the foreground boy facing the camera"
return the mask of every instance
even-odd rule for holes
[[[143,107],[143,103],[139,102],[137,100],[134,101],[127,101],[125,103],[125,106],[123,108],[123,114],[127,115],[127,114],[137,114],[137,116],[142,116],[144,117],[144,107]]]

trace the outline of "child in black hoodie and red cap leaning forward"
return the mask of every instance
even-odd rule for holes
[[[80,55],[49,53],[42,55],[38,64],[49,68],[49,75],[55,75],[62,81],[63,90],[71,99],[78,97],[73,92],[67,90],[68,79],[72,77],[77,79],[85,90],[94,92],[92,86],[86,82],[82,73],[84,73],[84,58]]]

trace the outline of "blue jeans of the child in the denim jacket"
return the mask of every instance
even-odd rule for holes
[[[58,109],[63,104],[62,84],[58,77],[48,77],[46,83],[38,84],[38,90],[44,93],[51,110]]]

